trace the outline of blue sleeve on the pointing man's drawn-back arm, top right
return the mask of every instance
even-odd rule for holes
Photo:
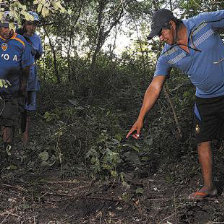
[[[195,18],[201,22],[208,22],[213,29],[224,28],[224,10],[200,13]]]

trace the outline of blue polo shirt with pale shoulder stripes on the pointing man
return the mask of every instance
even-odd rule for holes
[[[187,28],[190,52],[178,45],[165,44],[154,76],[167,76],[175,67],[188,75],[196,87],[196,96],[211,98],[224,95],[224,60],[220,61],[224,58],[224,45],[216,32],[224,27],[224,10],[201,13],[183,20],[183,23]]]

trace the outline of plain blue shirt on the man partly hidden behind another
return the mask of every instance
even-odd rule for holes
[[[31,48],[31,55],[33,60],[35,60],[35,55],[38,53],[40,56],[43,54],[43,48],[41,44],[41,39],[39,35],[34,33],[32,36],[26,36],[29,39],[29,44]],[[39,90],[39,82],[37,77],[37,66],[33,64],[30,67],[30,75],[27,82],[27,91],[37,91]]]

